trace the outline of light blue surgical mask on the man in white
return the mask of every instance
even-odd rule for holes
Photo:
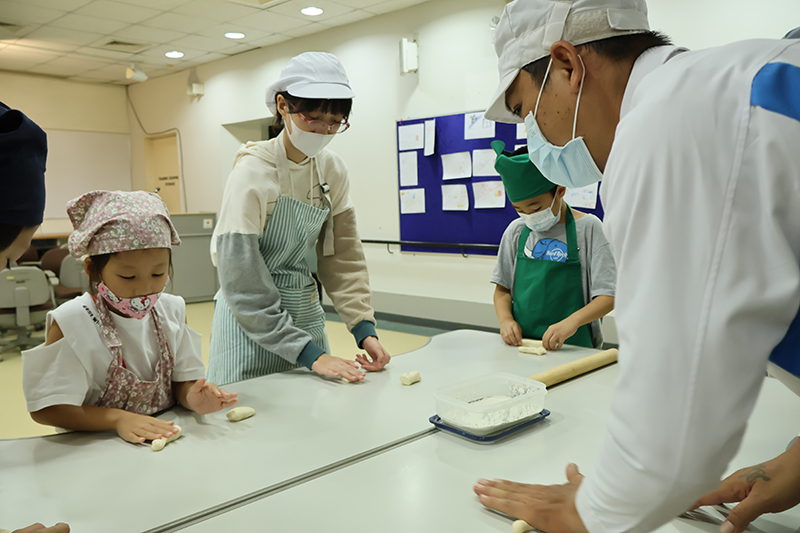
[[[583,65],[583,59],[578,56]],[[572,140],[564,146],[556,146],[545,139],[539,124],[536,122],[536,113],[539,110],[539,100],[542,98],[544,86],[547,83],[547,76],[550,74],[550,67],[553,59],[547,65],[544,74],[542,88],[536,98],[536,106],[533,113],[528,113],[525,117],[525,127],[528,130],[528,155],[536,168],[544,174],[544,177],[556,185],[563,185],[570,189],[585,187],[597,183],[603,179],[603,173],[597,168],[592,159],[592,154],[586,148],[583,137],[575,137],[575,127],[578,125],[578,107],[581,104],[581,93],[583,92],[583,80],[586,77],[586,69],[581,75],[581,88],[578,89],[578,101],[575,103],[575,120],[572,123]]]

